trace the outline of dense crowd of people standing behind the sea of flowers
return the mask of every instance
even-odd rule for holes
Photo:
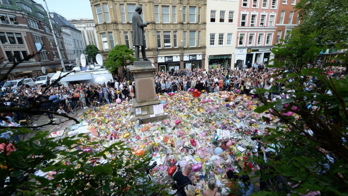
[[[310,65],[310,64],[309,64]],[[343,69],[327,70],[327,75],[333,77],[345,77]],[[256,62],[247,68],[246,65],[240,69],[238,67],[232,70],[224,70],[222,68],[209,69],[180,69],[169,70],[166,72],[155,72],[155,89],[156,93],[168,93],[175,91],[188,91],[189,89],[198,89],[202,92],[218,92],[218,91],[238,91],[238,93],[246,93],[247,95],[255,94],[256,88],[269,90],[275,86],[276,92],[266,92],[266,98],[272,100],[277,96],[283,97],[279,92],[284,88],[284,83],[277,83],[280,78],[271,77],[274,70],[266,68],[262,64]],[[291,70],[290,70],[291,72]],[[23,85],[6,87],[0,91],[0,101],[2,107],[26,107],[33,101],[44,101],[46,103],[38,106],[37,109],[54,111],[60,114],[69,114],[80,110],[81,108],[96,107],[102,104],[110,104],[117,100],[128,100],[135,97],[135,82],[130,75],[123,77],[115,77],[103,84],[69,84],[69,86],[51,86],[45,91],[45,87],[39,85]],[[291,80],[291,79],[290,79]],[[307,88],[311,90],[315,88],[313,79],[303,81]],[[256,96],[256,95],[255,95]],[[47,101],[48,100],[48,101]],[[52,101],[50,101],[52,100]],[[28,114],[15,112],[2,114],[9,116],[14,122],[30,118]],[[53,119],[53,115],[47,113],[49,119]]]

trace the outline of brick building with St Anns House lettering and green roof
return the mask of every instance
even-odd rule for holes
[[[61,29],[53,25],[64,63],[68,63]],[[41,67],[45,67],[47,73],[62,68],[46,10],[33,0],[0,0],[0,40],[0,66],[4,66],[1,74],[14,61],[37,53],[41,47],[40,54],[18,65],[11,77],[40,75]]]

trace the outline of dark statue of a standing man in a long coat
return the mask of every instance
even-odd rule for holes
[[[145,53],[145,40],[144,40],[144,27],[146,27],[150,22],[143,22],[140,17],[143,8],[139,5],[135,7],[135,13],[132,17],[133,25],[133,46],[135,46],[135,60],[142,61],[139,58],[139,47],[141,46],[141,55],[143,56],[144,61],[148,61]]]

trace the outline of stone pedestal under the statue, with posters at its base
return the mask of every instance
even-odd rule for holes
[[[132,121],[139,119],[143,123],[148,123],[167,118],[164,113],[154,114],[153,112],[153,105],[160,104],[156,96],[153,77],[153,71],[156,70],[157,68],[152,66],[151,61],[134,61],[133,66],[129,66],[129,71],[134,74],[135,82],[134,118]]]

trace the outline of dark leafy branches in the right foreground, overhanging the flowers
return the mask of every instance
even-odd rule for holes
[[[320,191],[322,195],[348,194],[348,80],[347,76],[326,74],[327,68],[347,68],[348,55],[339,54],[322,67],[307,68],[309,60],[313,62],[326,50],[325,46],[317,47],[316,38],[315,33],[303,35],[297,29],[283,45],[272,49],[275,56],[285,57],[285,61],[275,58],[274,65],[267,66],[274,69],[272,77],[278,77],[275,82],[284,86],[280,89],[284,95],[268,102],[263,93],[276,89],[258,89],[261,93],[258,99],[264,105],[255,111],[269,111],[285,126],[273,129],[270,136],[263,138],[266,146],[275,150],[268,163],[254,158],[267,168],[262,180],[273,182],[272,191],[260,195],[297,195],[310,191]],[[313,90],[305,90],[309,80],[316,85]],[[287,112],[294,115],[284,115]],[[291,185],[284,183],[280,188],[276,183],[278,176],[284,176]]]

